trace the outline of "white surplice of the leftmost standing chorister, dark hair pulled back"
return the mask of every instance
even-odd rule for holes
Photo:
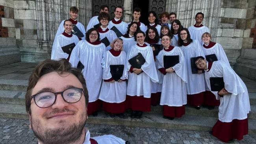
[[[54,39],[53,45],[52,45],[52,54],[51,59],[61,59],[65,58],[67,59],[69,57],[69,54],[63,52],[62,48],[63,46],[67,46],[72,43],[77,44],[79,42],[79,39],[76,35],[72,35],[72,37],[65,37],[64,35],[58,35],[56,39]]]

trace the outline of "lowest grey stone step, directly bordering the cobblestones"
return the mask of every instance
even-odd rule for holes
[[[130,113],[124,113],[124,118],[111,118],[103,111],[98,116],[89,116],[87,123],[89,124],[108,124],[119,126],[141,126],[156,127],[162,129],[185,129],[197,131],[211,131],[213,125],[217,122],[217,118],[208,116],[189,116],[184,115],[182,118],[174,118],[174,120],[164,119],[160,113],[143,113],[141,119],[132,119]],[[17,118],[28,119],[24,105],[1,104],[0,118]],[[256,135],[256,120],[249,119],[249,135]]]

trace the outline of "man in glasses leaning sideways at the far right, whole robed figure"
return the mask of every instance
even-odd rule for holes
[[[243,135],[248,134],[247,114],[250,111],[249,94],[245,83],[224,61],[208,63],[204,57],[197,57],[195,65],[205,70],[204,76],[209,89],[210,78],[223,78],[224,88],[218,92],[212,91],[221,103],[219,120],[212,129],[213,136],[223,142],[243,139]]]

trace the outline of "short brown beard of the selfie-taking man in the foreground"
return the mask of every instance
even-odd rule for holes
[[[69,144],[80,139],[86,123],[86,114],[80,116],[78,124],[66,126],[63,120],[58,122],[59,128],[51,129],[42,126],[40,120],[31,116],[30,124],[35,136],[44,144]],[[61,124],[63,123],[63,124]]]

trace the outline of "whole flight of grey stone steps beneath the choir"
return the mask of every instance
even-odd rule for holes
[[[256,86],[254,86],[256,82],[249,80],[248,83],[251,106],[251,112],[248,114],[249,135],[256,135]],[[29,118],[25,109],[27,85],[28,80],[0,79],[0,118]],[[218,119],[218,108],[208,110],[202,107],[197,110],[186,106],[186,114],[182,118],[174,118],[174,120],[163,118],[162,106],[160,105],[151,107],[151,112],[143,113],[141,119],[131,119],[129,115],[130,111],[127,111],[124,118],[111,118],[104,111],[100,111],[96,117],[89,116],[87,123],[211,131]]]

